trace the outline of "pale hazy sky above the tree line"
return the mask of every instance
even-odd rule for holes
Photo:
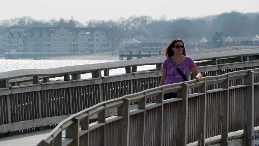
[[[36,20],[63,17],[85,24],[90,19],[117,20],[147,15],[158,19],[203,17],[223,12],[259,12],[259,0],[4,0],[0,20],[31,16]]]

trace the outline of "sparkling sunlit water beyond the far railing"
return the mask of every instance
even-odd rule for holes
[[[20,69],[44,69],[44,68],[56,68],[65,67],[73,65],[83,65],[83,64],[96,64],[105,63],[118,60],[10,60],[1,59],[0,60],[0,72],[6,72],[11,70]],[[147,70],[151,68],[156,68],[155,65],[140,66],[138,70]],[[109,75],[123,74],[125,73],[125,68],[109,70]],[[103,71],[102,71],[103,76]],[[81,79],[91,78],[91,73],[81,74]],[[52,78],[50,80],[64,79],[63,77]]]

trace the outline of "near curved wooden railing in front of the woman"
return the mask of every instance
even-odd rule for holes
[[[62,121],[38,145],[186,145],[221,136],[227,145],[228,132],[244,129],[244,145],[253,142],[259,126],[259,69],[241,70],[147,89],[104,101]],[[241,79],[241,85],[231,85]],[[209,90],[209,85],[219,84]],[[199,92],[189,94],[198,88]],[[163,101],[163,94],[178,92],[178,98]],[[157,96],[157,102],[147,99]],[[130,104],[138,102],[136,109]],[[106,118],[105,111],[117,115]],[[97,114],[98,121],[89,123]],[[62,131],[66,135],[62,138]]]

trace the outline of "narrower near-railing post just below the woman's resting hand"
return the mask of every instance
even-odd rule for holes
[[[205,146],[205,133],[206,133],[206,104],[207,104],[207,79],[204,79],[204,84],[199,87],[199,91],[205,93],[204,95],[200,96],[201,104],[200,104],[200,120],[199,123],[199,146]]]

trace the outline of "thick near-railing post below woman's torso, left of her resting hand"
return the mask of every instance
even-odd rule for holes
[[[187,144],[187,115],[188,115],[188,91],[189,84],[183,83],[183,88],[178,92],[177,97],[183,98],[177,102],[177,126],[176,145]]]

